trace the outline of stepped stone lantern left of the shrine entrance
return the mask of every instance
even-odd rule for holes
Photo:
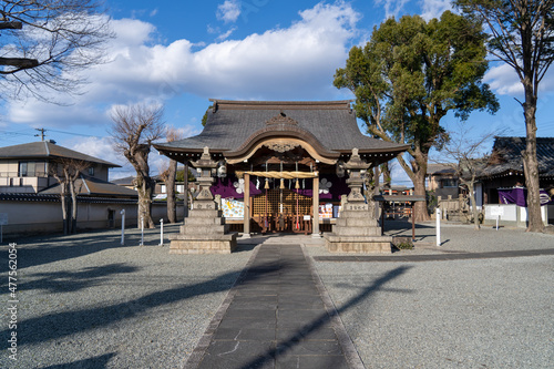
[[[205,147],[201,160],[193,164],[202,171],[198,177],[201,191],[181,232],[170,235],[170,254],[230,254],[237,246],[237,234],[228,233],[222,211],[209,191],[214,182],[212,172],[217,163]]]

